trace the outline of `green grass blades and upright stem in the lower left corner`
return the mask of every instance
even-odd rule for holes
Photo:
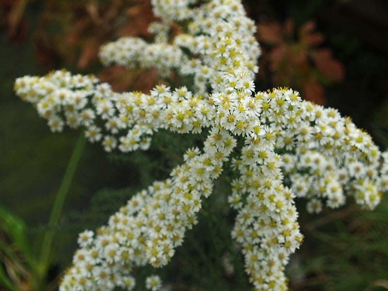
[[[80,136],[67,164],[64,178],[51,209],[49,223],[42,237],[33,240],[40,242],[40,252],[33,252],[27,238],[26,225],[22,219],[12,215],[0,206],[0,255],[5,270],[0,268],[0,283],[10,291],[50,290],[48,272],[53,262],[53,240],[55,227],[63,208],[66,195],[80,161],[85,139]],[[55,281],[54,281],[55,284]]]

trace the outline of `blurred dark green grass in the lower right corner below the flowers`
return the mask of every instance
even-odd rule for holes
[[[319,217],[301,213],[306,240],[288,267],[291,289],[388,290],[387,221],[387,197],[372,212],[348,205]]]

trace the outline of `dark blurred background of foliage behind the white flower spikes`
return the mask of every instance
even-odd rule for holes
[[[257,90],[289,86],[308,100],[338,108],[386,149],[388,1],[245,0],[244,6],[257,23],[262,49]],[[155,70],[103,68],[97,53],[121,36],[152,40],[147,25],[155,20],[146,0],[0,0],[0,290],[9,289],[2,280],[33,290],[33,270],[7,221],[23,226],[28,252],[37,256],[80,135],[69,129],[52,134],[32,106],[16,97],[14,80],[65,67],[94,73],[118,92],[147,92],[160,81]],[[164,147],[127,156],[86,145],[59,223],[51,229],[46,290],[56,289],[71,263],[80,231],[103,225],[136,190],[167,177],[177,161],[173,155],[162,158],[163,152],[180,153],[168,135],[159,138]],[[211,196],[204,204],[184,247],[158,271],[172,290],[250,290],[230,239],[233,213],[225,210],[225,199],[217,199]],[[388,290],[387,197],[373,212],[349,201],[311,216],[304,213],[304,201],[297,204],[306,239],[288,266],[291,290]]]

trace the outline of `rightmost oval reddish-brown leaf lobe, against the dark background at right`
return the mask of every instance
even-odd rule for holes
[[[345,75],[344,66],[332,57],[330,49],[315,49],[311,58],[317,69],[332,81],[342,81]]]

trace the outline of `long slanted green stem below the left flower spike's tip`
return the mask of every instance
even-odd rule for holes
[[[73,149],[73,153],[70,157],[70,160],[67,164],[64,178],[62,179],[61,185],[59,187],[58,193],[55,198],[54,206],[51,210],[49,224],[48,224],[48,231],[45,233],[45,236],[43,238],[42,248],[41,248],[40,257],[39,257],[39,264],[37,266],[37,275],[39,278],[38,280],[40,281],[38,284],[40,285],[40,287],[42,287],[42,284],[45,283],[47,271],[50,264],[49,260],[50,260],[52,240],[54,238],[54,229],[58,223],[59,216],[61,214],[61,210],[64,205],[67,192],[69,190],[74,174],[77,170],[78,163],[80,162],[81,155],[85,147],[85,143],[86,143],[86,140],[83,136],[83,133],[81,133],[78,138],[77,144]],[[42,290],[42,289],[39,289],[39,290]]]

